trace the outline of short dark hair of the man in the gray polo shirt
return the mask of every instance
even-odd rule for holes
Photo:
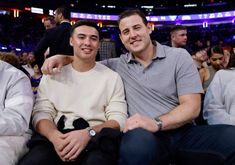
[[[128,10],[125,10],[124,12],[122,12],[122,13],[119,15],[119,18],[118,18],[118,26],[119,26],[120,21],[121,21],[122,19],[124,19],[124,18],[126,18],[126,17],[130,17],[130,16],[132,16],[132,15],[138,15],[138,16],[140,16],[141,19],[142,19],[142,21],[143,21],[143,23],[144,23],[145,25],[148,24],[148,20],[146,19],[145,14],[144,14],[142,11],[140,11],[139,9],[128,9]]]

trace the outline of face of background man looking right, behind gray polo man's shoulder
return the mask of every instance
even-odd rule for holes
[[[184,47],[187,44],[187,30],[178,30],[172,34],[172,42],[176,47]]]

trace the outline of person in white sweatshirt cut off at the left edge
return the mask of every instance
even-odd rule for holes
[[[33,95],[27,76],[2,60],[0,80],[0,163],[15,165],[28,151]]]

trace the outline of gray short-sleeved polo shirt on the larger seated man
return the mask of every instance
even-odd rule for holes
[[[131,53],[102,62],[122,77],[130,115],[139,113],[153,118],[178,106],[178,96],[203,93],[189,53],[158,42],[156,45],[156,55],[147,68]]]

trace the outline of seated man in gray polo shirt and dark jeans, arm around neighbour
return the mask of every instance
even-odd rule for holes
[[[235,164],[234,126],[192,124],[203,90],[187,51],[152,42],[151,27],[139,10],[123,12],[118,26],[130,53],[104,63],[122,77],[130,114],[119,164]],[[51,58],[44,72],[62,61],[71,59]]]

